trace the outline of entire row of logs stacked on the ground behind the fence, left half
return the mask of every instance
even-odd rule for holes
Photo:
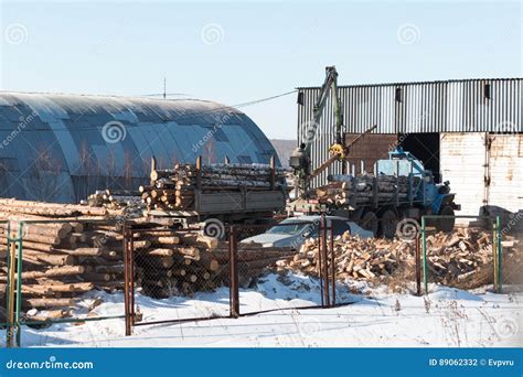
[[[46,316],[67,315],[93,289],[124,287],[122,212],[84,205],[0,200],[0,218],[11,220],[11,237],[22,226],[22,304]],[[31,223],[36,222],[36,223]],[[204,237],[200,229],[172,230],[145,218],[134,219],[137,287],[154,298],[211,290],[228,283],[228,244]],[[6,305],[7,223],[0,224],[0,308]],[[239,247],[243,281],[293,251]],[[40,314],[39,314],[40,315]],[[1,315],[0,315],[1,316]],[[1,322],[1,321],[0,321]]]

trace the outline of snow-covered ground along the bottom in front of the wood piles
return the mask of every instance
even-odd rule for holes
[[[386,293],[385,287],[340,284],[338,298],[350,302],[333,309],[289,309],[320,302],[316,280],[269,274],[256,289],[241,292],[241,311],[274,312],[178,324],[138,326],[124,336],[124,320],[54,324],[43,330],[24,327],[23,346],[87,347],[492,347],[523,344],[522,293],[493,294],[431,286],[418,298]],[[122,294],[89,293],[103,303],[93,312],[118,315]],[[228,289],[200,293],[193,299],[153,300],[138,295],[145,321],[227,315]],[[87,309],[85,309],[85,312]],[[93,314],[92,314],[93,315]],[[4,334],[2,342],[4,341]]]

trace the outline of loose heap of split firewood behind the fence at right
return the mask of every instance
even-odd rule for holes
[[[414,252],[409,241],[361,239],[346,233],[334,240],[337,279],[381,281],[408,272],[405,278],[412,280]],[[505,258],[511,258],[511,254],[512,249],[505,249]],[[492,258],[492,236],[488,231],[459,228],[452,234],[427,236],[430,281],[467,289],[491,283]],[[318,240],[308,239],[297,255],[279,260],[277,266],[280,270],[319,276],[318,263]]]

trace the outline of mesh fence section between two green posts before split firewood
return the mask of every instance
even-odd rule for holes
[[[467,220],[467,225],[456,224]],[[448,233],[437,231],[436,222],[452,220]],[[416,250],[416,276],[423,270],[425,293],[429,283],[459,289],[493,284],[502,290],[503,248],[500,217],[493,216],[423,216]],[[420,267],[419,267],[420,266]]]

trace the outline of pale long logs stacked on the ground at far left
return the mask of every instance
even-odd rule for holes
[[[0,217],[12,220],[11,234],[7,224],[0,228],[6,246],[0,251],[0,301],[6,299],[8,237],[19,235],[15,220],[22,219],[28,222],[21,229],[24,309],[64,314],[63,308],[73,306],[84,292],[121,288],[122,236],[105,216],[106,209],[81,205],[0,201]]]

